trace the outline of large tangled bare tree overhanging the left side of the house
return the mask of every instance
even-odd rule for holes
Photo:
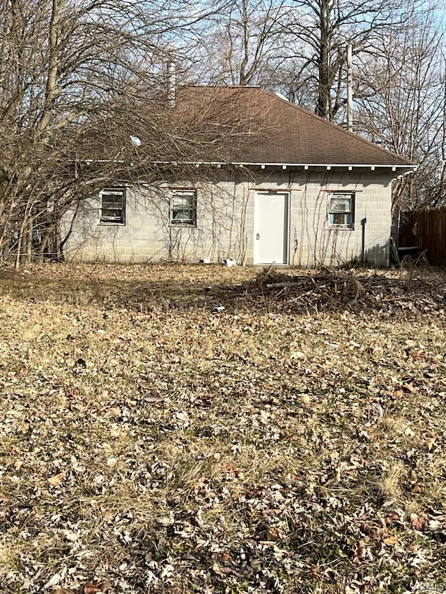
[[[100,182],[134,180],[152,150],[175,143],[159,130],[160,65],[172,40],[213,8],[184,0],[0,6],[0,251],[13,249],[18,263],[43,252],[75,200]],[[141,116],[148,111],[159,115]],[[144,157],[129,142],[137,129],[152,141]]]

